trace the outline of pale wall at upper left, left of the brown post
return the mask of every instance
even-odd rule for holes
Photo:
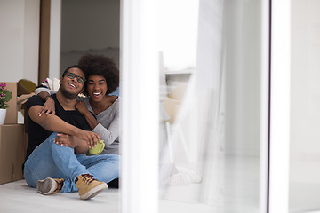
[[[37,83],[39,0],[0,1],[0,81]]]

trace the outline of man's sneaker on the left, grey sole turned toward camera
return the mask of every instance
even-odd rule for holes
[[[47,177],[44,180],[38,180],[36,185],[36,191],[44,195],[52,193],[60,193],[63,186],[64,179],[53,179]]]

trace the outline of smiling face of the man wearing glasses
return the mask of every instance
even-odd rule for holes
[[[60,90],[66,98],[76,99],[76,96],[84,91],[84,83],[79,83],[77,80],[79,77],[85,79],[84,72],[79,68],[72,67],[68,69],[66,75],[60,78]]]

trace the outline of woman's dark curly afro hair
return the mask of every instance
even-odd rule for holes
[[[84,71],[86,79],[91,75],[103,76],[107,81],[107,94],[116,91],[119,86],[119,69],[113,59],[103,55],[85,54],[79,59],[78,66]],[[87,81],[84,83],[84,94],[88,95]]]

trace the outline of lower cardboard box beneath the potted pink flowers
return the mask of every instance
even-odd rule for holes
[[[0,125],[0,184],[23,179],[25,150],[23,124]]]

